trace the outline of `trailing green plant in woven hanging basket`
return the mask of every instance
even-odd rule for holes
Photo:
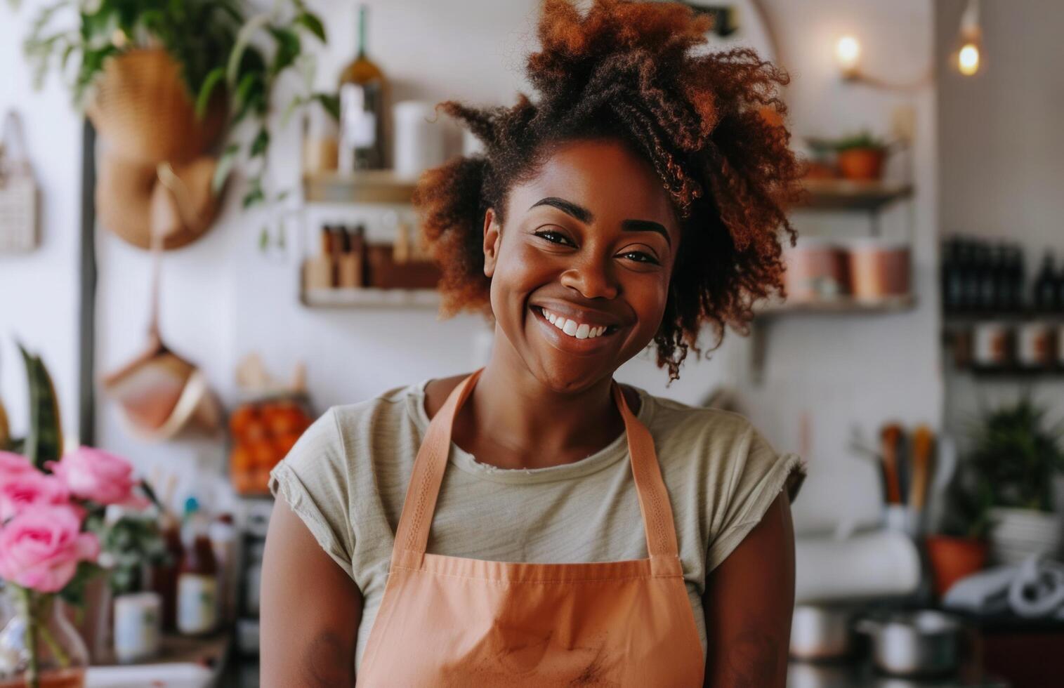
[[[60,0],[40,10],[23,48],[35,83],[39,86],[50,69],[57,69],[69,81],[76,105],[98,129],[123,119],[122,135],[111,138],[145,165],[180,162],[170,160],[173,151],[199,154],[223,137],[212,188],[218,194],[243,161],[248,177],[243,204],[250,207],[285,194],[270,194],[265,181],[267,118],[278,80],[294,73],[302,82],[284,107],[285,121],[313,100],[337,118],[339,110],[335,95],[311,87],[316,64],[304,47],[307,40],[326,41],[318,16],[302,0],[278,0],[257,14],[252,10],[245,0]],[[176,70],[156,58],[159,51]],[[168,71],[180,79],[180,98],[159,95],[155,82]],[[149,88],[138,91],[137,107],[107,110],[99,102],[145,81]],[[161,119],[180,136],[161,134]],[[244,122],[249,123],[238,127]],[[131,127],[142,135],[128,136]]]

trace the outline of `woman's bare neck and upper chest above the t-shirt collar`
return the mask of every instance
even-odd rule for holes
[[[580,391],[558,392],[543,385],[504,341],[496,341],[502,346],[493,348],[452,433],[479,462],[500,468],[570,464],[625,432],[610,377]]]

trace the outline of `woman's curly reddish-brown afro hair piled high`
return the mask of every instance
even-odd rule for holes
[[[510,107],[440,108],[484,144],[484,154],[427,171],[414,205],[421,240],[443,271],[443,317],[491,315],[484,275],[484,214],[501,214],[506,192],[534,174],[552,145],[619,139],[661,178],[681,224],[654,343],[669,382],[709,322],[714,349],[726,326],[745,333],[752,304],[783,293],[781,230],[794,241],[786,207],[797,200],[800,164],[782,124],[778,87],[788,77],[749,49],[693,54],[711,19],[679,3],[595,0],[581,14],[569,0],[544,0],[542,49],[528,58],[538,93]]]

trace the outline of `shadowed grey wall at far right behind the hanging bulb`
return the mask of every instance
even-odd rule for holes
[[[983,2],[984,69],[974,78],[946,67],[963,5],[935,3],[942,232],[1019,242],[1031,279],[1046,249],[1058,269],[1064,258],[1064,3]],[[1064,418],[1064,381],[1030,382],[1051,420]],[[948,425],[964,434],[981,405],[1015,399],[1021,386],[959,372],[946,392]]]

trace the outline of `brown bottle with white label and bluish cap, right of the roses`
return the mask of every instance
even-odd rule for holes
[[[218,624],[218,564],[209,526],[199,502],[188,498],[181,534],[185,555],[178,570],[178,632],[182,635],[205,635]]]

